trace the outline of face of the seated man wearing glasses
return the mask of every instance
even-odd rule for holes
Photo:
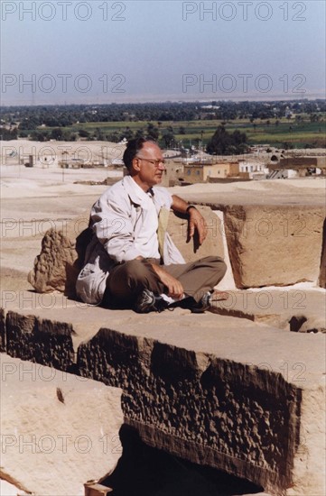
[[[165,170],[160,147],[155,143],[145,142],[134,159],[134,168],[137,172],[134,179],[145,191],[160,184]]]

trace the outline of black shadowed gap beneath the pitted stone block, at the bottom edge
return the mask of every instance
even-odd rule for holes
[[[120,429],[123,455],[104,481],[115,496],[231,496],[263,491],[252,482],[145,445],[134,429]]]

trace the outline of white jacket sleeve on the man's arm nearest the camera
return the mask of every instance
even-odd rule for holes
[[[90,214],[91,227],[107,254],[117,263],[134,260],[141,253],[135,247],[131,203],[127,198],[103,195]]]

